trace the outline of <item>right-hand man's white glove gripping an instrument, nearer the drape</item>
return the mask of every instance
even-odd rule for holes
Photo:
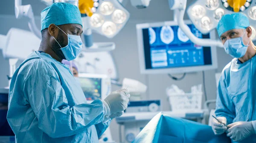
[[[212,130],[215,135],[221,135],[227,130],[227,118],[218,117],[217,118],[221,123],[219,123],[215,118],[212,119]]]

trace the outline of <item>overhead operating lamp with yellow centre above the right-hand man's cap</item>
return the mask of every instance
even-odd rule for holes
[[[253,0],[196,0],[187,9],[189,19],[203,34],[215,29],[225,14],[241,12],[250,20],[252,40],[256,40],[256,3]]]

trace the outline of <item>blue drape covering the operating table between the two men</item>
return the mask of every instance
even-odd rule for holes
[[[225,134],[214,135],[208,125],[157,114],[133,143],[231,143]]]

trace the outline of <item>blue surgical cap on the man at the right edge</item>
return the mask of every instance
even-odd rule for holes
[[[246,15],[242,13],[226,14],[218,22],[217,31],[219,37],[232,29],[245,29],[250,26]]]

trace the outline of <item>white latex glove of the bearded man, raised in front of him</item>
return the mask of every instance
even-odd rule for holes
[[[104,101],[107,103],[107,109],[110,109],[110,114],[122,112],[128,107],[130,94],[129,90],[122,89],[112,92]],[[107,114],[108,115],[108,114]]]

